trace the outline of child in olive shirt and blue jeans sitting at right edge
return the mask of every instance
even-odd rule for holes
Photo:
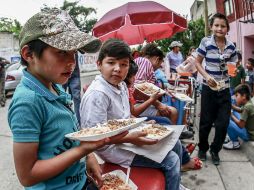
[[[230,141],[223,145],[223,148],[231,150],[240,148],[238,137],[244,141],[254,140],[254,104],[251,101],[250,87],[240,84],[234,94],[237,106],[232,105],[232,109],[240,114],[231,114],[228,126]]]

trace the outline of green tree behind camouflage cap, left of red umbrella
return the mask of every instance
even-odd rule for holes
[[[62,10],[66,10],[74,20],[75,24],[83,31],[90,32],[97,22],[96,18],[88,18],[92,13],[96,14],[96,10],[92,7],[84,7],[78,5],[79,1],[64,1]]]

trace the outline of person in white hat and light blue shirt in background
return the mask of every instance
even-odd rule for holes
[[[180,65],[184,59],[183,55],[180,51],[180,47],[182,47],[182,43],[178,41],[173,41],[170,44],[172,50],[166,55],[167,63],[165,64],[165,72],[166,74],[170,72],[176,73],[176,67]]]

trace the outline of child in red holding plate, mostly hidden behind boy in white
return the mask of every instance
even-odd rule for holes
[[[161,94],[155,93],[153,94],[148,100],[144,101],[142,104],[136,105],[136,100],[133,97],[133,85],[134,85],[134,80],[135,80],[135,75],[138,72],[138,66],[134,61],[130,62],[130,67],[128,74],[126,78],[124,79],[124,82],[127,84],[128,90],[129,90],[129,102],[130,102],[130,111],[131,114],[135,117],[138,117],[142,112],[144,112],[149,106],[151,106],[154,101],[156,101]],[[157,116],[160,116],[159,112],[157,112]],[[160,117],[156,118],[157,120],[160,120]],[[166,122],[163,121],[164,124],[169,125],[171,124],[170,121]],[[183,148],[183,155],[182,155],[182,171],[187,171],[187,170],[197,170],[202,168],[202,161],[195,157],[195,158],[190,158],[188,152],[186,151],[185,147],[182,146]]]

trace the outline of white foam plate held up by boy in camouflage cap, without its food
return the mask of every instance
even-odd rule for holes
[[[147,117],[140,117],[140,118],[135,118],[134,121],[135,123],[130,124],[130,125],[126,125],[124,127],[121,127],[119,129],[113,130],[113,131],[109,131],[109,132],[105,132],[102,134],[95,134],[95,135],[84,135],[84,136],[75,136],[76,134],[78,134],[77,132],[74,133],[69,133],[66,134],[65,137],[72,139],[72,140],[79,140],[79,141],[98,141],[107,137],[112,137],[115,135],[118,135],[124,131],[128,131],[130,129],[134,129],[136,127],[138,127],[142,122],[144,122],[147,119]],[[125,119],[119,119],[119,121],[123,121]]]

